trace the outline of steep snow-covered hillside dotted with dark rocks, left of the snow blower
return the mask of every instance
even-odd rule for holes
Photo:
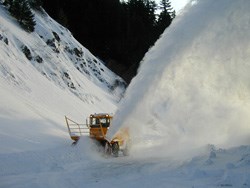
[[[35,20],[27,33],[0,5],[1,153],[55,145],[67,133],[64,115],[85,122],[90,113],[113,113],[125,89],[45,12]]]

